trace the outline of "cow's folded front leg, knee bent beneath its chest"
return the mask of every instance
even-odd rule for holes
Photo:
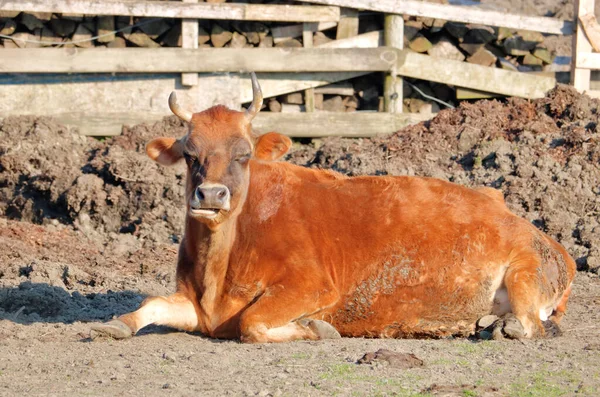
[[[338,294],[295,291],[292,286],[270,288],[240,318],[240,339],[245,343],[289,342],[299,339],[333,339],[340,334],[328,322],[310,318],[333,306]]]

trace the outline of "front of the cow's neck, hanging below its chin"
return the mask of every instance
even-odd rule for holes
[[[235,219],[211,230],[192,218],[186,220],[185,250],[192,259],[195,281],[200,288],[200,306],[210,316],[216,299],[222,295],[233,245]]]

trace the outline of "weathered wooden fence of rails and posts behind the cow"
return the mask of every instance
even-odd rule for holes
[[[553,77],[402,49],[403,19],[399,14],[553,34],[573,31],[570,21],[405,0],[310,0],[305,2],[319,5],[302,6],[183,1],[0,0],[2,11],[181,18],[183,38],[183,48],[0,50],[0,94],[13,98],[4,108],[0,104],[0,117],[49,114],[85,134],[118,134],[124,123],[155,121],[169,114],[166,98],[173,89],[190,106],[224,103],[239,108],[251,99],[244,72],[256,71],[265,97],[305,90],[307,104],[306,113],[260,113],[255,122],[259,130],[297,137],[373,136],[429,117],[401,113],[402,77],[526,98],[542,97],[556,83]],[[385,31],[358,35],[355,9],[387,14]],[[197,19],[299,22],[305,48],[196,48]],[[312,32],[319,30],[320,24],[337,24],[338,40],[313,47]],[[586,56],[578,58],[578,68],[598,65],[595,54]],[[384,89],[387,113],[314,111],[311,96],[316,87],[370,72],[388,76]],[[51,82],[49,76],[53,76]],[[82,100],[85,94],[92,97]]]

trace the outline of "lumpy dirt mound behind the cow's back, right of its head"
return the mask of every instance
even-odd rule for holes
[[[558,86],[536,101],[464,103],[393,136],[333,138],[292,162],[359,174],[421,175],[501,189],[512,211],[600,267],[597,100]]]

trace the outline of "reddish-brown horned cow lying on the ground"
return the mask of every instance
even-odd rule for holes
[[[190,130],[146,150],[188,167],[177,292],[95,331],[125,338],[161,324],[244,342],[466,336],[490,313],[512,337],[556,329],[575,263],[501,194],[272,161],[290,140],[252,132],[262,104],[252,81],[246,112],[192,114],[169,98]]]

